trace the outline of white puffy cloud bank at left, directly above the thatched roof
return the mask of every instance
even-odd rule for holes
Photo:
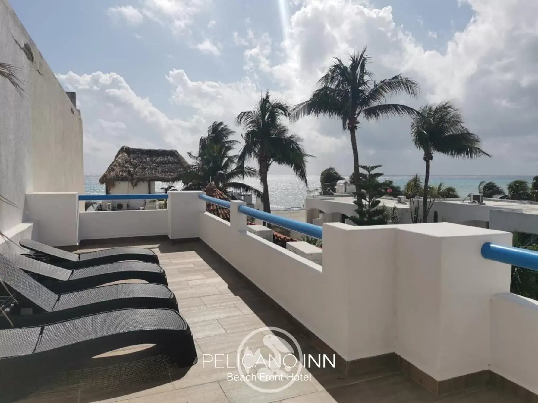
[[[175,148],[186,157],[194,150],[204,122],[197,116],[173,119],[141,98],[116,73],[57,75],[66,90],[76,91],[84,121],[84,168],[102,172],[124,145]],[[206,126],[207,128],[207,126]]]

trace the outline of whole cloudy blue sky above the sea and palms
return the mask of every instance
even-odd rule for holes
[[[212,121],[233,126],[237,113],[266,89],[300,102],[332,56],[345,57],[364,45],[378,77],[403,73],[421,83],[420,99],[397,102],[454,100],[494,155],[479,161],[436,156],[434,174],[538,170],[538,6],[532,2],[10,3],[64,88],[77,92],[87,173],[100,174],[122,145],[176,148],[186,156]],[[383,164],[390,174],[422,172],[408,128],[408,119],[362,124],[361,162]],[[351,171],[349,139],[338,121],[308,118],[292,130],[316,155],[309,174],[328,165]],[[287,170],[273,171],[282,172]]]

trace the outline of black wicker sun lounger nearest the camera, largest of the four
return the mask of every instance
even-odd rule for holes
[[[197,361],[189,326],[173,310],[118,310],[43,327],[0,329],[0,400],[27,395],[36,385],[33,379],[43,383],[51,373],[86,365],[91,357],[138,344],[155,344],[179,367]],[[129,354],[122,357],[127,361]]]

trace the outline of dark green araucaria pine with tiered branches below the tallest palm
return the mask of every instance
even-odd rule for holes
[[[387,195],[387,183],[379,182],[380,172],[373,173],[383,165],[360,165],[363,170],[359,172],[358,183],[360,191],[357,192],[357,199],[353,203],[357,204],[357,215],[349,219],[357,225],[385,225],[387,224],[387,212],[385,206],[381,204],[380,197]],[[362,204],[362,207],[361,205]]]

